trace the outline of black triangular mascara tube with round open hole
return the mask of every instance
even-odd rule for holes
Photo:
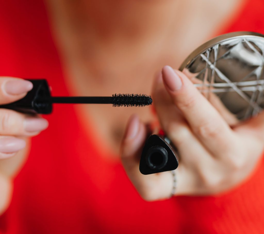
[[[172,171],[179,163],[172,147],[161,135],[150,135],[143,148],[139,170],[142,174],[154,174],[163,171]]]

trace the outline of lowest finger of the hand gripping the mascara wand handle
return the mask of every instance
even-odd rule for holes
[[[0,160],[14,156],[18,151],[26,147],[23,139],[11,136],[0,137]]]

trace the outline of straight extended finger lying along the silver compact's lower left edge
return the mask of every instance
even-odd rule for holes
[[[169,66],[163,68],[162,77],[174,104],[206,148],[217,156],[230,152],[229,142],[234,141],[235,134],[192,82]]]

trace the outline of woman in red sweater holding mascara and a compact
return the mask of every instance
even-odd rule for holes
[[[44,77],[54,96],[152,93],[156,110],[54,105],[43,116],[48,127],[40,116],[1,109],[1,232],[262,231],[263,114],[231,129],[183,73],[165,66],[178,68],[215,35],[264,33],[262,1],[1,5],[1,104],[31,88],[11,76]],[[180,151],[171,199],[170,172],[138,170],[146,125],[157,121]]]

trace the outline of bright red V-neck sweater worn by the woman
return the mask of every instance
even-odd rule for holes
[[[44,4],[2,0],[0,6],[0,75],[44,77],[53,95],[69,95]],[[248,1],[219,34],[264,33],[263,12],[263,0]],[[32,139],[0,233],[264,233],[264,160],[221,196],[145,202],[120,161],[98,153],[72,105],[55,105],[46,118],[50,126]]]

